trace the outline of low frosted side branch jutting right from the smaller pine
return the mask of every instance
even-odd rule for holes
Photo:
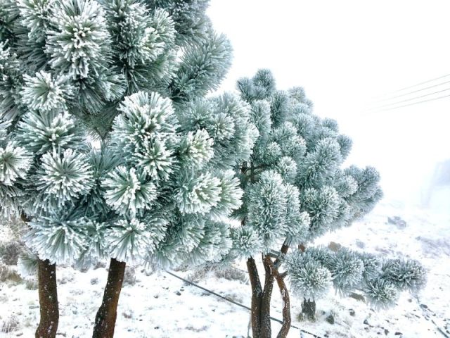
[[[333,285],[342,295],[363,292],[375,308],[393,305],[399,293],[425,286],[426,271],[418,261],[383,258],[341,248],[311,247],[284,258],[294,292],[319,299]]]

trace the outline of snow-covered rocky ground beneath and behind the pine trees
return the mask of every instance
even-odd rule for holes
[[[406,227],[387,223],[399,216]],[[4,237],[5,234],[1,234]],[[0,237],[0,238],[1,238]],[[320,244],[333,241],[354,249],[386,256],[408,256],[428,268],[428,285],[416,299],[404,294],[398,306],[373,311],[356,299],[330,294],[317,302],[315,323],[299,322],[300,299],[291,299],[293,325],[320,337],[445,337],[450,331],[450,214],[405,208],[382,202],[364,220],[352,227],[328,234]],[[244,262],[240,268],[244,268]],[[198,284],[223,296],[250,305],[250,286],[238,270],[225,276],[209,272],[175,272],[191,275]],[[96,309],[100,305],[107,271],[97,268],[82,273],[58,268],[60,323],[58,336],[91,337]],[[229,280],[229,279],[231,280]],[[421,304],[421,305],[420,305]],[[335,323],[326,317],[332,313]],[[281,318],[281,300],[274,287],[271,315]],[[0,284],[0,330],[11,318],[18,320],[10,333],[0,337],[34,337],[39,318],[37,290],[30,283],[8,281]],[[136,268],[136,282],[126,284],[120,296],[115,337],[247,337],[249,313],[233,303],[187,285],[165,272],[145,273]],[[434,322],[434,323],[433,323]],[[277,323],[273,323],[274,337]],[[444,334],[438,331],[438,327]],[[288,337],[310,337],[291,329]]]

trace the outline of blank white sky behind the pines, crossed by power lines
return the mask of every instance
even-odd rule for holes
[[[450,97],[364,111],[376,96],[450,74],[449,13],[448,0],[212,0],[209,9],[234,49],[222,89],[233,90],[259,68],[273,71],[279,89],[304,87],[315,112],[338,120],[354,139],[351,162],[377,167],[387,196],[400,199],[450,158]]]

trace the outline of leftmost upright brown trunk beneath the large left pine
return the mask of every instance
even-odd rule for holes
[[[41,318],[36,338],[55,338],[58,330],[59,309],[56,287],[56,264],[38,258],[39,309]]]

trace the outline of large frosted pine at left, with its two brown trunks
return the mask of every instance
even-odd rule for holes
[[[36,337],[56,336],[56,263],[110,258],[94,337],[113,337],[126,263],[229,251],[258,132],[238,96],[205,98],[231,62],[207,3],[0,0],[1,211],[39,260]]]

